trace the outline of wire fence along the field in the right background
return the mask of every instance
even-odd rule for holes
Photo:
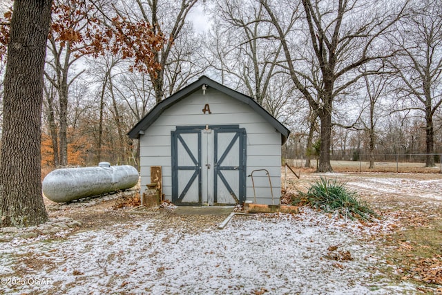
[[[434,166],[426,166],[427,155],[434,157]],[[442,173],[442,154],[377,154],[370,167],[370,155],[358,154],[349,160],[332,157],[330,164],[334,171],[353,172],[396,172],[396,173]],[[383,160],[386,159],[386,160]],[[285,159],[282,164],[294,168],[316,169],[318,160],[312,158],[307,164],[306,158]]]

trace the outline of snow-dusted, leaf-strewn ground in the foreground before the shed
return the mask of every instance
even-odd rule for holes
[[[222,230],[189,231],[185,222],[159,229],[158,222],[137,218],[58,238],[3,242],[0,293],[413,292],[376,271],[383,261],[369,240],[388,230],[388,220],[367,226],[302,208],[294,216],[235,216]]]

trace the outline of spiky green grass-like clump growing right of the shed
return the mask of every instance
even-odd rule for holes
[[[379,216],[368,207],[367,202],[358,200],[356,191],[349,191],[343,182],[321,177],[312,184],[307,193],[298,191],[305,204],[325,212],[337,212],[345,218],[372,220]]]

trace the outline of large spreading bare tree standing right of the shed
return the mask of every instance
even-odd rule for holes
[[[309,57],[307,53],[307,59],[301,59],[304,61],[302,63],[296,50],[291,47],[295,45],[289,39],[291,26],[283,22],[280,16],[282,12],[269,0],[260,0],[260,3],[267,10],[268,21],[273,24],[276,37],[282,44],[286,57],[285,67],[294,86],[320,119],[318,171],[332,171],[329,153],[334,101],[345,97],[349,86],[367,75],[358,72],[362,65],[391,55],[376,42],[398,21],[403,10],[400,8],[396,11],[387,2],[358,0],[302,0],[302,6],[291,11],[287,11],[288,7],[284,6],[284,14],[291,14],[292,19],[296,15],[300,30],[298,36],[305,37],[297,44],[298,48],[307,47],[311,53]],[[309,68],[306,64],[318,67],[316,77],[306,71]]]

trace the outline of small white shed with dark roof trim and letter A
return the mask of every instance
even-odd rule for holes
[[[289,133],[251,97],[202,76],[157,104],[128,135],[140,139],[142,191],[151,166],[162,166],[165,198],[198,206],[279,204],[281,145]]]

